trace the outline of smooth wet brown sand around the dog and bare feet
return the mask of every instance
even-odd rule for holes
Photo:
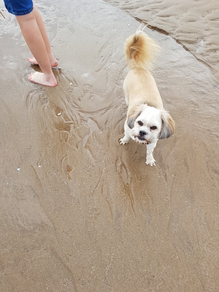
[[[143,145],[118,142],[123,45],[139,22],[99,0],[37,7],[59,60],[55,88],[28,82],[39,68],[15,18],[0,17],[1,291],[218,291],[211,70],[145,30],[163,48],[153,75],[176,122],[151,168]]]

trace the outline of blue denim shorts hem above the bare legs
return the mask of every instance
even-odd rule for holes
[[[32,0],[4,0],[4,3],[8,12],[13,15],[25,15],[34,9]]]

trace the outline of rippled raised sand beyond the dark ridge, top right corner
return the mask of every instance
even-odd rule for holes
[[[219,81],[218,0],[106,0],[153,29],[170,34],[208,65]]]

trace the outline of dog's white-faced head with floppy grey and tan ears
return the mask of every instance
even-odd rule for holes
[[[175,132],[175,122],[165,109],[143,104],[131,109],[127,125],[131,129],[131,138],[139,144],[154,143],[157,139],[171,137]]]

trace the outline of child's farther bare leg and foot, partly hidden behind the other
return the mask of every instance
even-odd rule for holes
[[[51,50],[51,46],[50,46],[50,42],[49,42],[49,39],[48,39],[48,35],[46,33],[46,28],[45,28],[44,22],[43,22],[43,20],[41,18],[41,15],[40,15],[39,11],[35,7],[35,5],[34,5],[34,13],[35,13],[35,18],[36,18],[36,23],[37,23],[37,25],[39,27],[41,36],[42,36],[42,38],[44,40],[44,44],[46,46],[46,51],[47,51],[47,54],[48,54],[48,57],[49,57],[50,64],[51,64],[52,67],[56,67],[56,66],[58,66],[58,62],[55,60],[55,57],[54,57],[53,52]],[[27,60],[30,63],[33,63],[35,65],[38,64],[36,62],[35,58],[27,58]]]

